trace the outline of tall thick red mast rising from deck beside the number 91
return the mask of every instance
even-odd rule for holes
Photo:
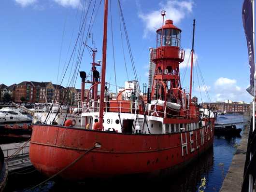
[[[105,92],[105,75],[106,75],[106,58],[107,58],[107,28],[108,28],[108,0],[104,5],[104,33],[102,45],[102,67],[101,67],[101,83],[100,83],[100,112],[98,129],[103,130],[103,112],[104,112],[104,92]]]

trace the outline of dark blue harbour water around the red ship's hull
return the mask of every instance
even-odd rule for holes
[[[242,115],[226,114],[218,117],[219,122],[230,122],[243,118]],[[243,124],[236,125],[243,129]],[[242,135],[242,132],[241,132]],[[197,161],[188,165],[175,176],[158,180],[125,177],[112,180],[87,180],[83,183],[67,183],[59,180],[50,180],[31,189],[46,178],[40,175],[33,167],[22,172],[10,172],[5,192],[73,192],[88,189],[120,191],[167,191],[167,192],[197,192],[201,179],[206,178],[206,184],[200,189],[204,192],[218,192],[228,172],[232,157],[241,137],[214,136],[213,148],[199,157]],[[89,165],[85,165],[89,166]]]

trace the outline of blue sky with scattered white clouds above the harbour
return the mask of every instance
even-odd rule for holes
[[[89,1],[85,2],[85,10]],[[89,26],[94,2],[95,0],[92,0],[89,7],[85,30]],[[78,35],[84,0],[1,0],[0,4],[0,83],[56,83],[60,64],[59,82],[63,66],[71,56]],[[117,84],[124,86],[128,78],[122,53],[117,0],[112,0],[111,4],[116,78]],[[191,48],[193,19],[196,19],[196,67],[199,66],[203,73],[211,101],[251,101],[251,97],[245,91],[249,86],[249,66],[242,28],[242,0],[121,0],[121,4],[141,84],[148,82],[148,48],[156,46],[155,30],[161,26],[161,10],[164,9],[166,19],[172,19],[174,25],[182,29],[181,45],[186,50],[186,58]],[[93,36],[95,47],[98,48],[96,60],[101,60],[103,2],[100,5],[100,0],[96,0],[95,7],[95,10],[99,7],[99,12],[97,16],[93,16],[93,35],[87,44],[93,46]],[[110,10],[108,27],[106,80],[114,84]],[[123,40],[125,41],[124,32]],[[125,54],[129,80],[132,80],[134,75],[127,46]],[[88,73],[90,62],[91,57],[85,49],[81,70]],[[185,73],[185,63],[181,64],[181,77]],[[63,86],[67,85],[70,70],[62,83]],[[182,86],[187,90],[189,70],[187,69],[185,80],[182,80]],[[202,99],[208,102],[203,83],[198,83],[196,72],[194,77],[193,93],[201,100],[200,84]],[[80,88],[80,78],[77,79],[76,87]],[[110,89],[114,91],[115,87]]]

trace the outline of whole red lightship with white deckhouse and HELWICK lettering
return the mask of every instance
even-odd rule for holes
[[[58,175],[77,181],[172,173],[213,146],[213,111],[200,111],[191,99],[194,49],[190,92],[186,93],[179,74],[185,55],[180,47],[181,29],[171,20],[156,31],[157,48],[151,55],[156,65],[151,96],[146,100],[134,95],[130,100],[119,96],[110,99],[105,86],[107,10],[105,0],[100,99],[99,83],[93,81],[94,98],[87,98],[82,105],[81,123],[85,126],[33,126],[30,161],[49,177]],[[162,12],[163,21],[164,15]]]

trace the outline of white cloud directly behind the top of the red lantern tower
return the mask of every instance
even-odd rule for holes
[[[165,3],[159,3],[159,9],[147,14],[139,12],[139,18],[142,19],[145,29],[145,38],[148,32],[155,32],[157,28],[162,26],[161,11],[166,11],[165,19],[173,20],[174,25],[179,24],[186,14],[192,12],[194,2],[192,0],[167,0]],[[140,9],[140,6],[137,5]]]

